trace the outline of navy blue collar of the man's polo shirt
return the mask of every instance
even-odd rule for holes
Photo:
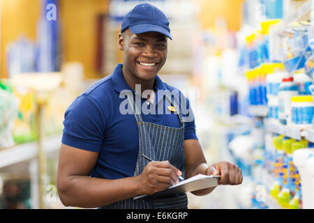
[[[119,93],[124,90],[130,90],[133,93],[135,91],[126,84],[126,80],[124,79],[124,74],[122,73],[122,63],[118,63],[116,68],[114,68],[114,72],[112,72],[112,82],[114,83],[114,90],[118,91]],[[154,89],[156,91],[163,90],[165,91],[165,84],[163,84],[163,81],[156,75],[155,82],[154,82]]]

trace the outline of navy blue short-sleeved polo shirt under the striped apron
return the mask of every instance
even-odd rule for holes
[[[154,83],[155,103],[149,106],[157,107],[163,103],[163,108],[170,105],[165,95],[158,98],[158,90],[176,90],[161,81],[156,76]],[[139,149],[139,135],[134,114],[121,114],[121,103],[126,98],[120,97],[121,91],[129,90],[119,63],[111,75],[100,79],[79,95],[66,109],[63,121],[62,143],[75,148],[99,153],[96,166],[90,176],[97,178],[117,179],[133,176]],[[184,117],[184,139],[197,139],[195,121],[187,98]],[[181,100],[179,100],[181,105]],[[141,103],[147,103],[142,98]],[[148,105],[148,104],[147,104]],[[122,112],[123,113],[123,112]],[[179,118],[171,114],[142,114],[143,121],[179,128]]]

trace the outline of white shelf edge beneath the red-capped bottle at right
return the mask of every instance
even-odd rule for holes
[[[305,137],[304,130],[300,130],[299,128],[296,128],[290,125],[281,125],[280,123],[272,123],[272,122],[267,123],[267,130],[269,132],[283,134],[286,137],[290,137],[290,138],[298,139],[298,140],[301,140],[301,137]],[[310,135],[314,139],[314,132]]]

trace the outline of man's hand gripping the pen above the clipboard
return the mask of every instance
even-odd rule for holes
[[[165,190],[171,185],[179,183],[178,176],[181,175],[182,172],[168,161],[151,161],[144,167],[142,174],[137,176],[140,194],[154,194]]]

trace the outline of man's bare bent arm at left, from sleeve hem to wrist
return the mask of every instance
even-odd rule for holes
[[[98,153],[61,145],[57,187],[65,206],[95,208],[137,195],[135,177],[118,180],[89,177],[97,159]]]

